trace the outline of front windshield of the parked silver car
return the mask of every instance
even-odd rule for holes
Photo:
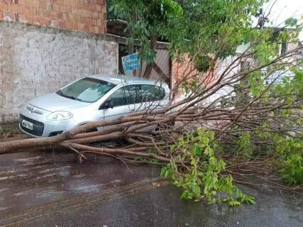
[[[56,94],[68,99],[93,103],[113,89],[116,84],[85,77],[60,89]]]

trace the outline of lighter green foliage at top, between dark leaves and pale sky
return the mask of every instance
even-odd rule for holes
[[[233,55],[238,45],[253,36],[253,16],[263,4],[259,0],[177,2],[184,17],[174,21],[181,32],[171,40],[172,52],[189,52],[194,57],[198,48],[204,55],[211,53],[221,59]]]

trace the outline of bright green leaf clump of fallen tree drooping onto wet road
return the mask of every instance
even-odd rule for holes
[[[233,185],[233,177],[224,175],[226,163],[215,150],[219,150],[219,144],[214,140],[214,133],[197,128],[195,133],[179,138],[172,145],[172,152],[180,155],[162,167],[161,176],[183,189],[182,199],[199,201],[205,196],[211,203],[226,201],[231,206],[255,203],[252,196]],[[184,168],[177,164],[187,161],[190,165]]]

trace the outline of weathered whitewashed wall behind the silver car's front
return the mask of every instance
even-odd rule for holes
[[[118,43],[109,35],[0,21],[0,123],[26,101],[89,74],[116,74]]]

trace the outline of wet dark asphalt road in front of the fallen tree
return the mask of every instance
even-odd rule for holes
[[[303,226],[303,196],[244,188],[257,204],[181,201],[152,166],[69,153],[1,155],[3,226]]]

